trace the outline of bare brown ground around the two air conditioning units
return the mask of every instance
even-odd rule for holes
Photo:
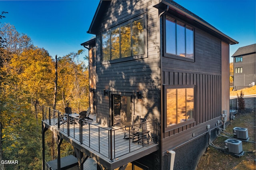
[[[255,170],[255,112],[240,112],[236,114],[234,120],[224,130],[223,135],[233,136],[234,127],[248,128],[249,141],[242,142],[242,148],[245,152],[240,158],[225,154],[216,148],[209,146],[207,151],[201,157],[197,170]],[[218,136],[213,144],[218,147],[224,147],[226,137]],[[251,152],[253,151],[253,152]]]

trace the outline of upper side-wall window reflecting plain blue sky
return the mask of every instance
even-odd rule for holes
[[[166,16],[165,56],[194,59],[194,29]]]

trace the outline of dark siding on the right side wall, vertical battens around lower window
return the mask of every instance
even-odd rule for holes
[[[212,125],[222,113],[221,41],[197,28],[194,35],[194,62],[170,57],[162,59],[163,85],[195,85],[195,121],[172,130],[163,130],[163,153],[206,132],[205,123]]]

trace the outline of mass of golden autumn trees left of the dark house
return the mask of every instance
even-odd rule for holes
[[[0,37],[2,159],[18,160],[14,169],[40,169],[41,106],[53,103],[55,62],[10,24],[0,24]],[[88,70],[76,59],[81,53],[58,58],[57,103],[88,101]]]

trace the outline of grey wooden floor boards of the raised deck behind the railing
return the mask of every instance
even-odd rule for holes
[[[96,117],[94,115],[90,117],[92,117],[94,121],[88,121],[88,124],[83,125],[81,146],[90,147],[96,152],[99,152],[100,154],[109,158],[110,157],[109,148],[111,147],[109,142],[108,129],[110,128],[107,128],[106,130],[100,129],[99,131],[98,126],[100,125],[96,123],[95,121]],[[80,126],[76,122],[78,121],[75,121],[75,123],[70,124],[69,136],[71,136],[72,138],[80,142]],[[56,118],[51,119],[51,126],[58,128],[58,120]],[[62,123],[62,125],[60,125],[60,130],[66,134],[67,134],[67,129],[68,129],[67,123]],[[115,129],[115,135],[112,136],[112,141],[113,141],[112,148],[114,148],[112,153],[113,158],[118,158],[120,156],[123,156],[124,154],[128,154],[130,152],[143,148],[141,142],[138,144],[138,142],[132,142],[132,139],[124,138],[124,130],[121,130],[121,129],[120,130]],[[151,140],[149,141],[149,144],[147,144],[147,142],[144,142],[144,147],[150,144],[154,144],[154,142]]]

